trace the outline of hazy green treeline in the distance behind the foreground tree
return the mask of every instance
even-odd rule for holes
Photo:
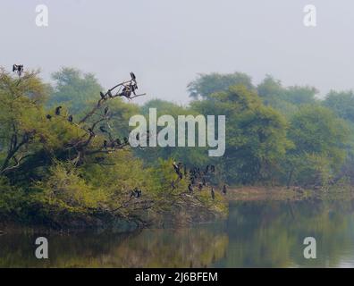
[[[65,103],[80,113],[101,88],[91,74],[63,69],[54,74],[49,105]],[[284,87],[267,75],[254,85],[249,75],[199,74],[188,85],[190,105],[152,99],[145,105],[116,102],[118,133],[129,132],[133,114],[226,115],[226,152],[207,156],[202,147],[150,147],[135,151],[144,164],[173,158],[190,165],[215,164],[218,180],[229,184],[324,187],[354,176],[354,93],[331,91],[324,99],[309,86]],[[118,106],[119,105],[119,106]],[[215,181],[216,182],[216,181]]]

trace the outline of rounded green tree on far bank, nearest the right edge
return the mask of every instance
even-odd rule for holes
[[[288,153],[290,178],[301,185],[321,185],[338,172],[347,155],[349,129],[323,106],[303,106],[291,118]],[[285,169],[286,170],[286,169]]]

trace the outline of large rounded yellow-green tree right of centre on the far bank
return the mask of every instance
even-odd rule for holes
[[[257,93],[241,85],[214,94],[213,99],[192,106],[202,114],[226,116],[226,151],[219,164],[227,181],[263,180],[291,146],[286,139],[285,119],[263,105]]]

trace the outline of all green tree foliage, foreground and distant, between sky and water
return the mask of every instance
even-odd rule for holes
[[[320,101],[316,88],[285,88],[271,76],[255,88],[244,73],[212,73],[190,83],[190,105],[155,99],[139,106],[114,98],[97,106],[102,88],[92,74],[63,68],[53,78],[51,89],[36,71],[18,78],[1,70],[0,216],[56,227],[195,221],[227,212],[218,187],[224,181],[314,187],[354,178],[351,91],[332,91]],[[60,115],[57,105],[63,105]],[[149,108],[175,122],[178,115],[225,115],[224,156],[209,157],[208,147],[103,147],[105,140],[128,137],[131,116]],[[189,168],[215,164],[211,185],[190,193],[189,175],[178,179],[173,161]],[[141,198],[134,189],[142,190]]]

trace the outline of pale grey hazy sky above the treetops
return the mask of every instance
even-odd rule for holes
[[[37,4],[49,26],[35,24]],[[303,25],[315,4],[317,27]],[[0,0],[0,65],[90,71],[109,88],[134,71],[140,91],[187,103],[198,72],[266,73],[325,94],[354,88],[352,0]],[[137,102],[144,99],[139,97]]]

